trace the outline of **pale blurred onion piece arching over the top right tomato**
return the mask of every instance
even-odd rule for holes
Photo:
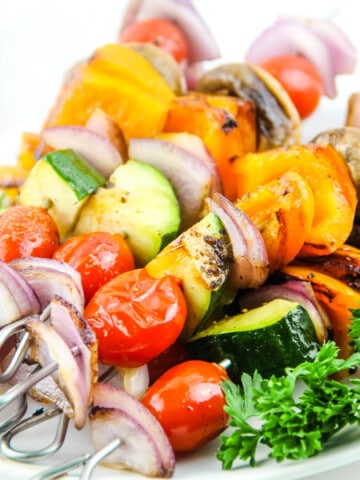
[[[320,73],[324,94],[336,96],[335,76],[356,67],[355,47],[333,23],[304,18],[280,18],[249,47],[246,60],[259,63],[276,55],[302,55]]]

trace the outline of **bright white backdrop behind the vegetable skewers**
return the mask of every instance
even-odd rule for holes
[[[89,56],[96,47],[116,39],[125,3],[125,0],[0,0],[2,154],[10,148],[6,143],[9,138],[11,142],[15,138],[9,136],[9,132],[17,134],[19,129],[40,126],[67,69]],[[331,18],[360,50],[355,0],[342,0],[341,7],[340,2],[334,0],[197,0],[194,3],[211,27],[224,58],[229,60],[241,61],[261,30],[278,15],[287,13]],[[339,78],[338,90],[338,99],[332,104],[323,99],[319,112],[305,123],[305,135],[318,133],[315,128],[319,131],[323,126],[342,125],[348,94],[360,91],[359,75]],[[11,147],[14,151],[17,148]],[[3,155],[0,158],[4,162]],[[1,465],[0,469],[3,473]],[[5,478],[3,474],[0,476]],[[338,480],[339,477],[342,480],[360,478],[360,462],[313,478]],[[121,478],[124,476],[119,475]],[[210,480],[211,474],[207,478]],[[221,478],[226,479],[226,474]]]

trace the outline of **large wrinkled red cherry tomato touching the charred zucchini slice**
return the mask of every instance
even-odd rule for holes
[[[100,287],[84,312],[98,339],[99,361],[120,367],[144,365],[168,348],[186,313],[180,281],[152,278],[143,268]]]

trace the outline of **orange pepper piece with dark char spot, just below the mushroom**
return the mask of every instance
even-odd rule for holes
[[[224,194],[231,201],[236,199],[233,162],[256,149],[252,102],[200,93],[176,97],[164,132],[187,132],[200,137],[218,166]]]

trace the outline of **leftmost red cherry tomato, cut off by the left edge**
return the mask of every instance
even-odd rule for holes
[[[48,257],[59,246],[57,226],[45,208],[15,205],[0,215],[0,258]]]

